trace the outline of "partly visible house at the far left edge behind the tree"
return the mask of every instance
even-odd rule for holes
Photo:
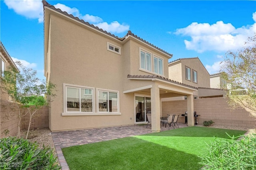
[[[15,65],[14,61],[10,57],[9,53],[5,49],[3,43],[0,41],[0,48],[1,48],[1,58],[0,58],[0,76],[3,76],[3,72],[8,68],[8,66],[14,66],[17,70],[17,66]],[[0,99],[10,101],[8,94],[0,90]]]

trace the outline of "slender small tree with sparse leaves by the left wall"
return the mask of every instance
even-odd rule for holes
[[[1,88],[6,92],[12,99],[12,103],[16,106],[10,106],[12,114],[6,115],[6,117],[16,116],[18,119],[18,137],[20,138],[20,127],[21,120],[25,115],[29,116],[28,122],[28,133],[32,118],[36,115],[37,111],[46,106],[51,102],[50,97],[56,96],[56,85],[45,80],[40,80],[36,77],[36,70],[26,68],[20,61],[16,61],[15,64],[18,66],[17,70],[13,66],[8,66],[8,69],[3,72],[1,76]],[[44,98],[42,95],[48,95],[49,98]],[[17,108],[17,109],[12,109]]]

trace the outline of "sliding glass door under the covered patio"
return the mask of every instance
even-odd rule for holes
[[[151,98],[135,96],[135,115],[137,122],[146,122],[146,114],[151,113]]]

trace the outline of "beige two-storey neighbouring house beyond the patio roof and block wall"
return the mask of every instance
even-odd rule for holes
[[[220,88],[212,88],[210,74],[198,57],[182,58],[169,64],[169,79],[198,88],[193,92],[194,99],[222,97],[225,92]],[[162,101],[186,100],[187,96],[164,98]]]

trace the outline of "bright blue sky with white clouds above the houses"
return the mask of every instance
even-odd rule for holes
[[[256,1],[84,1],[49,4],[124,37],[128,30],[179,58],[199,57],[210,74],[228,50],[256,33]],[[44,78],[41,0],[0,0],[0,39],[10,56]]]

